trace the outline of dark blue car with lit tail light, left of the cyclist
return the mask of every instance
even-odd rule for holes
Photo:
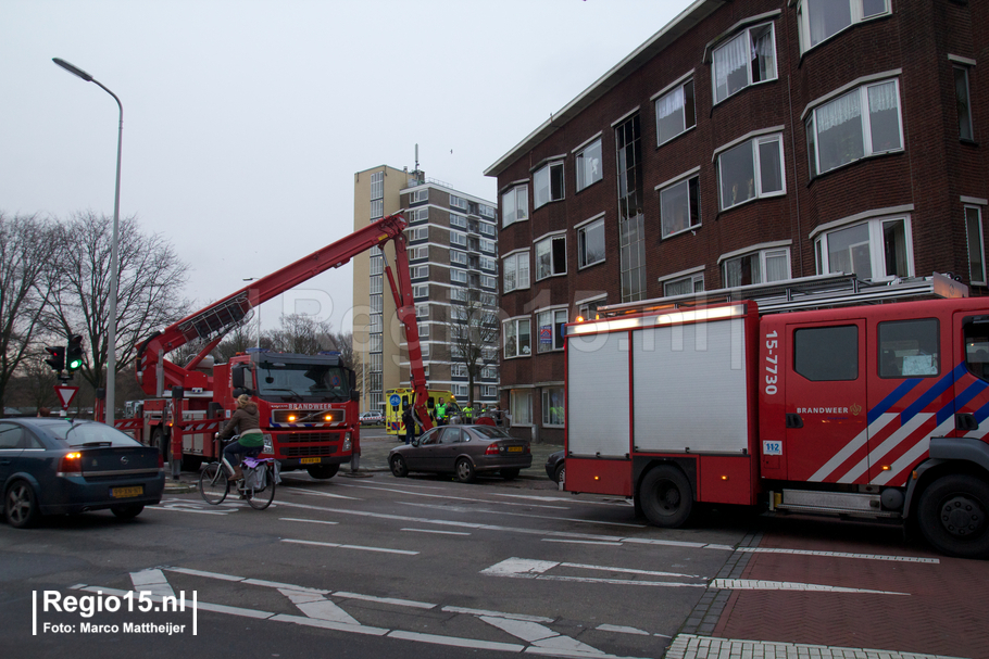
[[[12,527],[105,508],[130,519],[158,504],[164,489],[161,452],[104,423],[0,419],[0,492]]]

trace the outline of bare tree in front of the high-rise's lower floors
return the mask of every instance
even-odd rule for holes
[[[480,371],[494,363],[498,345],[498,316],[494,309],[479,300],[468,299],[464,304],[450,307],[447,319],[447,342],[450,362],[463,364],[467,370],[467,403],[474,407],[474,382]],[[488,355],[486,357],[486,355]]]

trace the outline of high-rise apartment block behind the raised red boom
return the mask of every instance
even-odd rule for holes
[[[427,179],[418,169],[388,166],[354,175],[354,230],[404,210],[409,267],[415,315],[430,389],[451,391],[456,400],[471,398],[462,343],[466,322],[494,322],[498,307],[498,228],[493,202],[453,190]],[[374,249],[353,259],[354,352],[364,364],[362,409],[384,409],[384,394],[409,386],[409,357],[396,316],[385,263],[395,264],[393,248]],[[474,309],[480,313],[468,313]],[[474,335],[486,335],[484,332]],[[498,339],[479,345],[474,379],[475,403],[498,402]]]

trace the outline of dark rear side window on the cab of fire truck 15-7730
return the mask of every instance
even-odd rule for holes
[[[859,328],[809,327],[793,332],[793,370],[811,382],[859,379]]]

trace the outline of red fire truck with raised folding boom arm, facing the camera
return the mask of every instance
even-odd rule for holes
[[[361,453],[360,393],[354,371],[339,354],[249,350],[227,364],[213,365],[210,353],[261,303],[365,250],[380,249],[384,254],[385,245],[391,243],[395,271],[386,259],[385,274],[405,330],[411,385],[416,394],[413,404],[424,426],[430,428],[405,226],[400,214],[376,220],[148,338],[138,351],[136,370],[149,397],[132,405],[138,418],[118,419],[115,427],[134,432],[145,444],[160,446],[177,479],[179,466],[195,470],[203,459],[218,457],[214,434],[229,419],[235,398],[246,393],[259,408],[262,455],[277,459],[283,470],[306,469],[314,478],[331,478],[341,464]],[[202,348],[184,366],[165,357],[192,341]]]

